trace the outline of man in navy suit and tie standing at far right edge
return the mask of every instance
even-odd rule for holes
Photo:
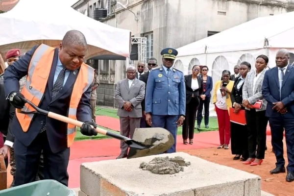
[[[294,181],[294,67],[289,64],[289,51],[280,49],[276,54],[276,67],[265,73],[262,95],[268,101],[266,116],[269,117],[271,145],[276,156],[276,168],[271,174],[284,173],[285,159],[283,132],[287,145],[286,181]]]

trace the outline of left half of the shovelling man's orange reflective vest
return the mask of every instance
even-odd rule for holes
[[[53,55],[54,48],[41,44],[34,52],[28,66],[27,77],[22,94],[26,99],[30,100],[37,106],[39,106],[40,101],[44,96],[53,61]],[[44,66],[44,64],[50,66]],[[26,103],[22,110],[29,112],[34,109]],[[16,117],[24,132],[28,131],[33,116],[33,114],[25,115],[16,112]]]

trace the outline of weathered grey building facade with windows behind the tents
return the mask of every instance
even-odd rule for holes
[[[100,22],[146,38],[146,58],[161,63],[160,51],[179,48],[262,16],[294,11],[294,0],[79,0],[73,8],[93,18],[108,9]],[[126,64],[136,61],[91,60],[100,79],[98,104],[115,106],[115,83],[125,77]]]

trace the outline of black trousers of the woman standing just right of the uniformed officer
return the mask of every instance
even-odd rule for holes
[[[185,121],[183,123],[182,136],[183,140],[194,138],[196,110],[199,105],[197,98],[191,98],[190,102],[186,104]]]

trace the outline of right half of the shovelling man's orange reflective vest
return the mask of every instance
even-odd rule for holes
[[[94,69],[86,64],[82,64],[81,68],[78,72],[78,76],[75,80],[75,83],[73,85],[73,92],[71,96],[71,101],[70,101],[70,108],[69,108],[69,118],[76,120],[76,111],[78,104],[80,102],[80,99],[87,91],[87,89],[90,87],[94,80]],[[72,124],[68,124],[68,147],[71,147],[74,141],[74,137],[76,134],[76,126]]]

